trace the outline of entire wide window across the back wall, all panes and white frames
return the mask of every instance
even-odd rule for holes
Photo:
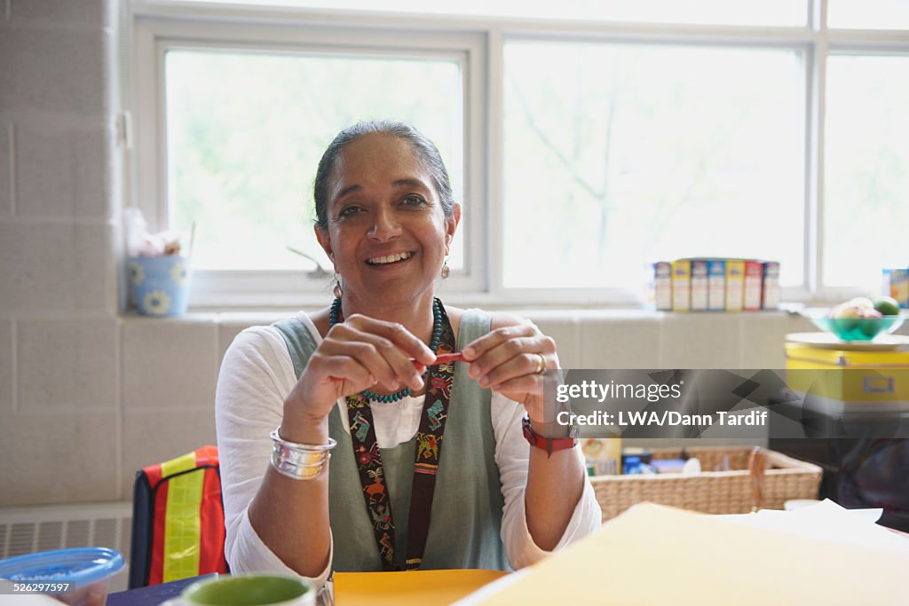
[[[195,305],[323,301],[293,246],[357,120],[415,124],[464,208],[446,296],[637,304],[649,263],[782,262],[788,300],[904,266],[896,0],[133,0],[132,194],[197,224]],[[312,293],[307,299],[307,293]]]

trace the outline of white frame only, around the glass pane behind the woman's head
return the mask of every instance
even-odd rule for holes
[[[155,5],[157,6],[157,5]],[[159,7],[161,8],[161,7]],[[165,53],[172,49],[210,48],[280,51],[305,55],[440,58],[456,62],[463,77],[464,201],[467,220],[464,269],[446,281],[455,292],[485,287],[484,254],[486,164],[485,114],[482,100],[484,40],[475,34],[417,33],[412,30],[365,28],[313,23],[310,19],[245,23],[211,15],[204,22],[138,13],[133,20],[133,98],[135,154],[132,158],[132,204],[145,214],[150,229],[168,225],[167,157],[165,134]],[[406,45],[402,44],[406,41]],[[443,94],[443,93],[440,93]],[[301,204],[312,204],[303,199]],[[466,229],[464,229],[466,227]],[[327,267],[326,269],[331,269]],[[194,307],[298,305],[325,301],[325,278],[300,271],[196,271],[190,303]]]

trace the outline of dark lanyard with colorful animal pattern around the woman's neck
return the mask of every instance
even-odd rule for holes
[[[435,353],[454,353],[452,325],[442,303],[436,300],[436,304],[442,311],[440,314],[442,334]],[[343,318],[339,320],[343,322]],[[426,378],[426,398],[420,417],[420,429],[416,432],[414,480],[411,488],[410,519],[407,521],[408,571],[418,569],[423,561],[452,382],[454,363],[430,367]],[[362,393],[348,395],[346,400],[351,441],[354,443],[354,458],[360,472],[360,483],[363,485],[366,512],[369,514],[375,544],[382,558],[382,568],[385,571],[399,570],[395,563],[395,519],[392,515],[391,498],[385,485],[382,456],[375,440],[373,412],[369,408],[369,400]]]

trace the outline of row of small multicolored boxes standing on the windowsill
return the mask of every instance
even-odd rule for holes
[[[903,284],[909,289],[905,273]],[[780,304],[780,263],[700,257],[660,261],[654,263],[654,301],[657,310],[667,312],[774,310]]]

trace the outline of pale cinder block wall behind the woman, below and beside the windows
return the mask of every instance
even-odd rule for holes
[[[118,313],[115,9],[0,0],[0,506],[131,499],[136,469],[215,441],[225,349],[285,315]],[[784,334],[810,330],[784,313],[524,314],[565,368],[774,368]]]

